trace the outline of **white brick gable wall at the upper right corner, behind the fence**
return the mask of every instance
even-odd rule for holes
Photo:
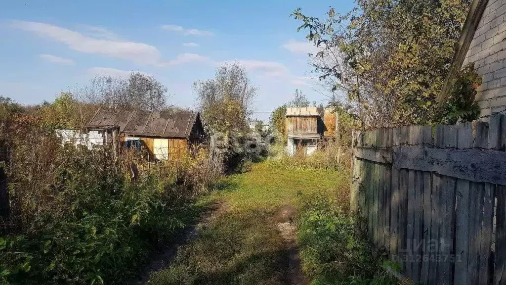
[[[486,116],[506,108],[506,0],[489,0],[463,65],[482,76],[476,100]]]

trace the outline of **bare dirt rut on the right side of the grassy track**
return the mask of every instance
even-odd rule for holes
[[[299,247],[297,246],[297,227],[293,224],[296,208],[292,205],[284,205],[279,208],[274,219],[277,228],[286,241],[286,264],[284,265],[283,277],[289,285],[309,284],[306,275],[302,271]]]

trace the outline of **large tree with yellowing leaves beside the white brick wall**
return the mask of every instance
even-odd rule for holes
[[[291,15],[321,51],[320,80],[374,127],[435,120],[436,96],[471,0],[358,0],[345,15]]]

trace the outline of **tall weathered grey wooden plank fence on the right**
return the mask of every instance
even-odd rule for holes
[[[506,284],[506,116],[358,134],[351,207],[415,282]]]

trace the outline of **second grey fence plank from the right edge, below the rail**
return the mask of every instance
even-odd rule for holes
[[[494,199],[495,199],[495,185],[485,183],[483,184],[483,191],[481,193],[483,198],[483,219],[481,226],[481,244],[480,244],[480,267],[478,284],[486,285],[490,279],[490,259],[491,259],[491,244],[492,244],[492,222],[494,215]]]

